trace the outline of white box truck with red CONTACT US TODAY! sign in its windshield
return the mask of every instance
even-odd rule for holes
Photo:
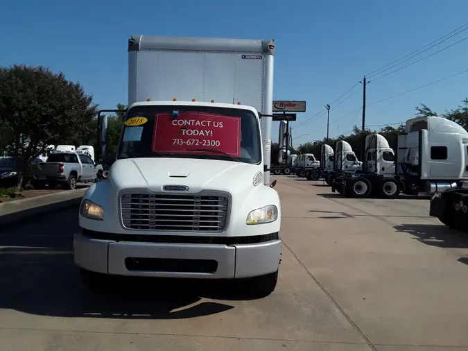
[[[249,289],[274,291],[274,49],[273,40],[130,37],[116,160],[83,196],[73,239],[90,288],[146,276],[252,278]]]

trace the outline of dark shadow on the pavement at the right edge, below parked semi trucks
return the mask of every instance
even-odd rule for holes
[[[399,232],[406,232],[417,237],[417,241],[439,248],[468,248],[468,236],[446,225],[437,224],[402,224],[394,227]]]

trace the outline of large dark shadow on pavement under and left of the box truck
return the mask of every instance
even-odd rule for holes
[[[159,278],[123,278],[112,284],[110,294],[92,293],[73,263],[76,214],[76,208],[55,212],[0,234],[0,309],[74,318],[175,319],[234,308],[206,298],[259,298],[244,293],[245,282]]]

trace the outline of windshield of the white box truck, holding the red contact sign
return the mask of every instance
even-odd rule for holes
[[[117,158],[182,157],[261,162],[257,118],[249,110],[151,105],[128,110]]]

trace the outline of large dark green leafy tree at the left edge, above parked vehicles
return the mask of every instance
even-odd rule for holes
[[[46,67],[0,68],[2,142],[12,146],[20,173],[50,144],[83,137],[97,106],[79,83]],[[4,139],[3,139],[4,138]]]

